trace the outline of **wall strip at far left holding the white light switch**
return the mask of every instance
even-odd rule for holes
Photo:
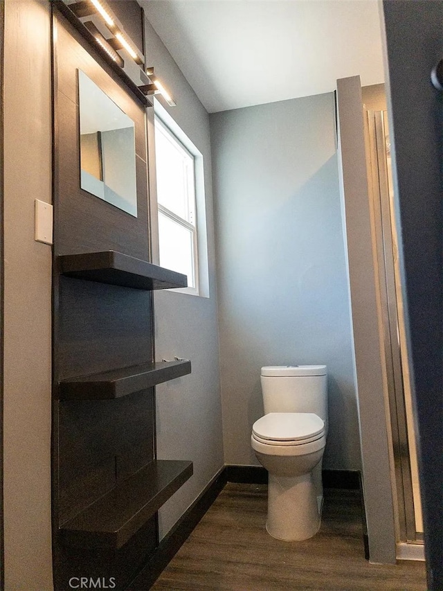
[[[51,247],[34,240],[34,200],[51,202],[51,7],[8,0],[5,17],[5,585],[48,591]]]

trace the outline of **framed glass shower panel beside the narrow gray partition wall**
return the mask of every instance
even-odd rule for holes
[[[395,459],[401,541],[422,540],[417,448],[410,394],[401,276],[392,191],[392,168],[386,112],[368,111],[372,172],[372,211],[383,321],[383,348]]]

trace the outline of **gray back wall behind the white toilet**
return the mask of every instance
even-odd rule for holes
[[[334,96],[210,115],[227,464],[257,464],[260,367],[328,367],[327,468],[360,466]]]

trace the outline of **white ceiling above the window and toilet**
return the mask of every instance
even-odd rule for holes
[[[383,82],[377,0],[139,3],[208,112]]]

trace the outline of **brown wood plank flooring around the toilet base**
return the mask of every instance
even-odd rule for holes
[[[152,590],[426,590],[424,563],[365,561],[358,491],[325,491],[322,527],[305,542],[275,540],[265,522],[266,486],[228,483]]]

